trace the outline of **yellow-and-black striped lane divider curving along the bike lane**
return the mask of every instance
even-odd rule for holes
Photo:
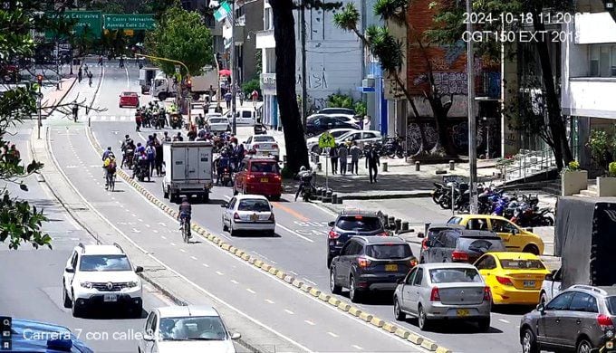
[[[94,147],[94,149],[98,153],[102,153],[102,148],[99,145],[98,141],[94,138],[90,128],[86,128],[86,135],[87,135],[88,139],[91,141],[91,144]],[[140,183],[138,183],[137,181],[132,179],[124,170],[122,170],[121,168],[117,169],[117,174],[127,184],[129,184],[130,186],[133,186],[137,191],[140,192],[140,194],[142,196],[146,196],[146,198],[152,204],[158,206],[166,214],[168,214],[168,215],[170,215],[170,216],[172,216],[174,218],[176,218],[178,216],[178,213],[176,211],[173,211],[170,207],[165,205],[164,202],[160,201],[158,199],[158,197],[156,197],[153,194],[151,194],[148,189],[146,189],[145,187],[141,186]],[[337,298],[332,297],[331,295],[323,293],[321,290],[319,290],[316,287],[309,286],[309,285],[305,284],[303,281],[300,281],[300,280],[294,278],[293,276],[288,275],[288,274],[284,273],[283,271],[274,268],[274,266],[271,266],[271,265],[263,262],[262,260],[259,260],[258,258],[253,257],[253,256],[245,253],[244,250],[238,249],[238,248],[236,248],[235,246],[233,246],[233,245],[231,245],[229,243],[225,243],[222,239],[220,239],[219,237],[217,237],[214,234],[210,234],[209,231],[206,228],[203,228],[201,225],[199,225],[197,223],[194,223],[192,225],[192,230],[195,231],[197,234],[200,234],[203,238],[205,238],[210,243],[216,244],[218,247],[220,247],[221,249],[225,250],[227,253],[231,253],[231,254],[236,255],[236,256],[238,256],[237,255],[238,253],[241,253],[241,256],[239,256],[239,257],[242,260],[244,260],[245,262],[248,262],[248,263],[252,264],[256,268],[259,268],[259,269],[263,270],[264,272],[270,273],[274,277],[282,279],[283,281],[285,281],[289,285],[294,286],[298,290],[303,291],[303,292],[309,294],[310,296],[312,296],[315,299],[319,299],[319,300],[321,300],[323,302],[327,302],[333,308],[337,308],[339,310],[347,312],[348,315],[351,315],[351,317],[359,318],[360,320],[363,320],[363,321],[369,323],[371,326],[374,326],[376,328],[384,330],[385,332],[387,332],[390,335],[392,335],[392,337],[403,339],[403,337],[406,336],[407,340],[409,342],[414,343],[415,345],[418,345],[421,348],[426,348],[426,349],[431,350],[431,351],[437,351],[438,350],[439,353],[450,353],[451,352],[451,350],[449,350],[448,348],[440,347],[440,346],[438,346],[437,343],[433,342],[430,339],[423,338],[423,337],[419,336],[414,331],[411,331],[409,329],[399,328],[394,323],[391,323],[391,322],[385,321],[385,320],[381,320],[380,318],[377,318],[374,315],[371,315],[371,314],[369,314],[367,312],[363,312],[363,311],[359,310],[358,308],[353,307],[350,303],[348,303],[346,301],[341,301],[341,300],[339,300]],[[168,292],[168,291],[165,290],[164,292]],[[176,298],[174,298],[173,296],[171,296],[171,298],[173,298],[174,301],[176,300]],[[178,300],[178,301],[181,302],[181,300]]]

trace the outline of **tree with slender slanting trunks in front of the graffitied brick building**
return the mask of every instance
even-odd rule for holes
[[[418,50],[421,52],[420,56],[426,67],[427,84],[423,87],[423,96],[425,100],[428,100],[432,109],[438,132],[438,144],[431,152],[438,154],[445,152],[445,154],[453,156],[457,153],[447,129],[447,117],[453,102],[453,95],[445,95],[438,91],[433,75],[432,63],[426,50],[426,38],[423,33],[414,30],[407,18],[409,5],[411,4],[412,2],[409,0],[379,0],[375,3],[373,10],[374,14],[380,16],[386,24],[400,25],[405,28],[406,32],[409,33],[409,41],[417,43]],[[402,63],[405,60],[402,43],[390,33],[387,26],[379,27],[372,25],[366,29],[365,33],[361,33],[358,29],[360,19],[360,13],[352,3],[347,4],[341,13],[334,15],[334,23],[338,27],[357,34],[361,42],[379,59],[383,70],[396,82],[409,101],[414,118],[419,118],[419,110],[415,104],[416,97],[413,97],[409,91],[408,84],[405,83],[406,80],[403,79],[403,75],[407,73],[400,72]],[[426,137],[421,124],[419,124],[419,129],[422,139],[422,148],[419,153],[422,153],[426,152],[423,150],[423,146],[426,146]]]

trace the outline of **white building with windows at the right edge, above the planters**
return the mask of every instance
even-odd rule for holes
[[[589,8],[602,10],[601,2]],[[616,22],[607,12],[582,13],[563,25],[561,107],[571,117],[572,148],[582,167],[591,159],[584,145],[592,129],[614,133],[616,124]]]

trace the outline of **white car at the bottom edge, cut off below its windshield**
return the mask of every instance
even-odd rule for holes
[[[209,306],[174,306],[149,312],[139,341],[140,353],[235,353],[232,339],[218,311]]]

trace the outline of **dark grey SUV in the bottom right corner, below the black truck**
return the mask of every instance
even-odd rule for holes
[[[588,353],[613,338],[614,320],[616,287],[576,284],[522,317],[520,343],[525,353]]]

